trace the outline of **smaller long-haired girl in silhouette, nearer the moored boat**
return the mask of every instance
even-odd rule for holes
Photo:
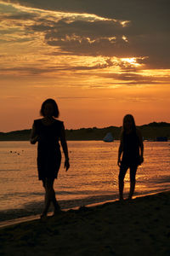
[[[130,169],[130,192],[128,199],[132,199],[135,188],[135,176],[138,166],[144,161],[144,144],[140,131],[136,128],[133,115],[127,114],[123,118],[121,143],[118,151],[119,195],[123,200],[124,177]],[[121,159],[122,157],[122,159]]]

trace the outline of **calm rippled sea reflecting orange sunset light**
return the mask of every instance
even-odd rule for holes
[[[119,142],[68,142],[71,168],[65,172],[62,161],[54,183],[61,207],[118,198],[118,146]],[[144,164],[137,172],[135,195],[170,189],[169,167],[170,143],[144,142]],[[37,145],[0,142],[0,187],[0,217],[41,212],[44,190],[37,179]],[[127,172],[125,194],[128,189]]]

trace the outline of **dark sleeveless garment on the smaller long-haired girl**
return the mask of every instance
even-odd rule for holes
[[[139,137],[136,131],[129,134],[123,133],[122,137],[123,153],[122,165],[138,166],[139,165]]]

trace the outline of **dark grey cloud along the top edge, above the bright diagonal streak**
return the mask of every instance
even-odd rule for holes
[[[146,25],[146,29],[150,26],[158,26],[158,28],[168,26],[170,8],[169,0],[86,0],[86,2],[84,0],[48,0],[48,2],[46,0],[5,0],[4,2],[20,3],[38,9],[88,13],[118,20],[134,20],[142,27]]]

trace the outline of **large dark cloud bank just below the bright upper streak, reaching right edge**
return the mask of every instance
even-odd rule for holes
[[[170,67],[170,36],[167,32],[141,34],[132,25],[122,27],[110,20],[89,22],[76,20],[44,21],[28,27],[44,32],[46,44],[57,46],[72,55],[104,55],[116,57],[147,57],[140,61],[148,68]],[[133,31],[133,32],[132,32]],[[127,41],[123,40],[123,36]]]

